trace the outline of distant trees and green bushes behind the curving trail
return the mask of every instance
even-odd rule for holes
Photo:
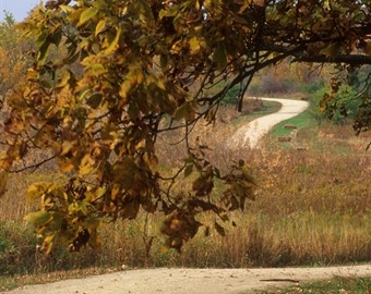
[[[369,103],[369,72],[370,66],[355,69],[286,59],[259,72],[251,81],[247,96],[309,100],[310,111],[319,123],[331,120],[343,124],[357,119]],[[227,93],[224,103],[236,105],[239,91],[240,85],[236,85]]]

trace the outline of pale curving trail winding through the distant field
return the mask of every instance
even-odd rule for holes
[[[247,144],[249,144],[251,148],[258,148],[260,139],[266,135],[274,125],[300,114],[309,106],[307,101],[302,100],[264,97],[261,99],[279,102],[282,108],[277,112],[261,117],[238,128],[228,144],[230,148],[246,146]]]

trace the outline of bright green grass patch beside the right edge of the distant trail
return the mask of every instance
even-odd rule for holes
[[[311,128],[311,127],[316,127],[318,123],[315,121],[315,119],[313,118],[313,115],[311,114],[311,112],[309,110],[306,110],[304,112],[300,113],[299,115],[283,121],[278,124],[276,124],[272,131],[271,134],[275,137],[279,137],[279,136],[287,136],[290,134],[291,130],[286,130],[285,125],[286,124],[292,124],[296,125],[298,131],[302,130],[302,128]]]

